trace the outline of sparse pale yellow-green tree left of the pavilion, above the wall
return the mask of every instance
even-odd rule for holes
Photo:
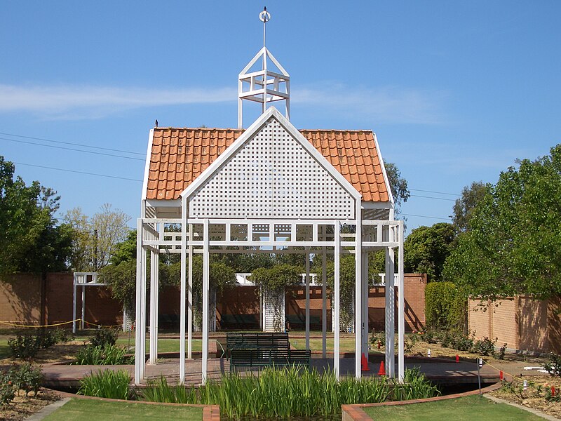
[[[100,212],[88,218],[81,208],[67,212],[65,219],[74,229],[72,241],[72,269],[78,272],[97,272],[109,265],[117,244],[130,232],[130,217],[121,209],[105,203]]]

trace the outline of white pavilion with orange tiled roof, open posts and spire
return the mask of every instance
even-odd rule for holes
[[[259,15],[264,27],[270,15]],[[265,44],[265,39],[264,39]],[[257,68],[256,68],[257,67]],[[243,129],[243,104],[259,102],[262,114]],[[273,107],[284,102],[284,115]],[[177,227],[181,227],[178,232]],[[342,228],[345,229],[342,229]],[[323,357],[325,261],[334,256],[332,367],[339,377],[339,259],[355,258],[355,375],[368,354],[368,253],[386,252],[385,279],[398,258],[398,370],[395,288],[386,282],[386,373],[403,380],[403,221],[394,220],[393,198],[372,131],[298,130],[290,123],[290,75],[264,45],[238,76],[238,128],[158,128],[149,133],[137,220],[135,384],[158,356],[158,256],[180,253],[180,382],[191,359],[192,262],[203,256],[201,384],[208,379],[209,262],[211,253],[306,253],[323,256]],[[147,274],[147,259],[150,273]],[[306,258],[306,347],[309,347],[309,258]],[[147,314],[147,277],[150,280]],[[149,321],[149,358],[144,343]],[[264,325],[264,329],[270,326]],[[186,338],[187,334],[187,338]]]

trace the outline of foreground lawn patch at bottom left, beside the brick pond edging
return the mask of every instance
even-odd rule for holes
[[[203,408],[187,406],[145,405],[128,402],[103,402],[72,399],[44,418],[45,421],[118,421],[118,420],[186,420],[203,419]]]

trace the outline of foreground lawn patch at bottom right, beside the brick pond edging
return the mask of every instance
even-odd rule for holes
[[[525,410],[506,403],[494,403],[482,396],[466,396],[465,398],[448,399],[446,401],[363,409],[373,420],[384,421],[432,421],[438,419],[457,421],[543,420],[543,418]]]

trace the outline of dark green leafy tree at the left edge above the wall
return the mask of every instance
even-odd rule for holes
[[[14,173],[0,156],[0,276],[65,270],[71,239],[54,217],[60,196],[38,181],[27,186]]]

